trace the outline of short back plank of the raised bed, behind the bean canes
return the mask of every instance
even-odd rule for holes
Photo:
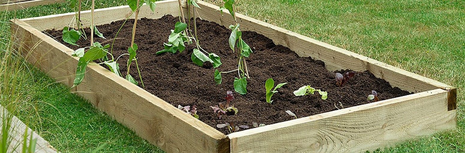
[[[151,19],[159,19],[166,14],[172,14],[173,16],[179,16],[179,9],[178,8],[178,0],[164,0],[156,2],[157,7],[155,12],[152,13],[148,6],[141,6],[139,11],[139,19],[140,18],[151,18]],[[116,7],[108,7],[102,9],[94,10],[94,24],[95,25],[103,25],[109,24],[113,21],[123,20],[126,19],[132,13],[131,8],[129,6],[116,6]],[[81,23],[84,27],[90,27],[90,11],[81,11]],[[134,19],[135,14],[132,14],[130,19]],[[42,17],[34,17],[34,18],[27,18],[21,19],[22,21],[26,22],[30,26],[38,29],[39,31],[45,31],[47,29],[57,29],[61,30],[64,26],[70,26],[71,21],[75,20],[75,13],[64,13],[64,14],[56,14],[56,15],[48,15]],[[76,25],[74,28],[77,28]]]

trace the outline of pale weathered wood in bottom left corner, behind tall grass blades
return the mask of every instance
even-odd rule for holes
[[[44,138],[40,137],[39,134],[34,132],[31,128],[27,127],[18,117],[14,115],[9,115],[7,109],[0,105],[0,126],[3,124],[4,119],[6,117],[11,118],[11,127],[9,138],[11,140],[8,152],[11,153],[21,153],[22,144],[24,141],[24,134],[27,134],[27,144],[29,144],[31,134],[32,138],[36,140],[35,150],[34,153],[58,153],[58,151],[53,148]],[[26,131],[27,130],[27,131]],[[27,133],[26,133],[27,132]],[[14,150],[13,150],[14,149]]]

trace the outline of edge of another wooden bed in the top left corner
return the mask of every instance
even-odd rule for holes
[[[61,3],[65,2],[66,0],[17,0],[19,2],[13,2],[8,4],[0,5],[0,11],[12,11],[12,10],[19,10],[27,7],[38,6],[38,5],[47,5],[52,3]]]

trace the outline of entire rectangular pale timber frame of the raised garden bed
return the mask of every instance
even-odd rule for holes
[[[233,23],[230,15],[215,11],[218,6],[202,1],[198,4],[202,19],[223,26]],[[155,13],[141,7],[139,17],[179,16],[178,10],[177,0],[159,1]],[[95,10],[95,24],[125,19],[130,12],[128,6]],[[81,15],[89,18],[90,11]],[[14,19],[15,24],[11,24],[18,43],[15,48],[27,61],[67,86],[73,85],[78,58],[71,56],[73,50],[41,31],[62,29],[73,16],[66,13]],[[83,82],[71,90],[167,153],[364,152],[455,128],[454,87],[242,14],[237,17],[242,30],[263,34],[301,57],[322,60],[328,70],[369,70],[392,86],[415,94],[225,135],[99,65],[89,65]],[[110,86],[114,90],[108,90]]]

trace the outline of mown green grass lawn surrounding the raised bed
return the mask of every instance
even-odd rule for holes
[[[119,6],[124,0],[98,8]],[[116,0],[115,0],[116,1]],[[207,0],[220,4],[221,0]],[[463,0],[237,0],[239,11],[381,62],[458,88],[457,129],[401,143],[376,153],[465,152],[465,1]],[[85,6],[86,9],[89,5]],[[0,21],[72,12],[66,4],[0,12]],[[0,24],[0,37],[9,26]],[[2,40],[3,41],[3,40]],[[1,45],[1,43],[0,43]],[[1,47],[1,46],[0,46]],[[3,46],[4,47],[4,46]],[[18,114],[62,152],[160,152],[82,98],[29,67]],[[39,120],[40,119],[40,120]]]

